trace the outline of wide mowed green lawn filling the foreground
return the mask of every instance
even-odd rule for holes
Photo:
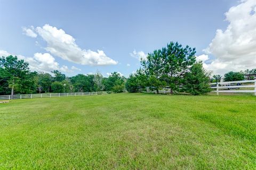
[[[256,97],[12,100],[0,104],[0,169],[256,169]]]

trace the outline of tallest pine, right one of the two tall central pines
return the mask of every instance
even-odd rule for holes
[[[183,76],[196,62],[195,54],[195,48],[182,47],[178,42],[171,42],[167,44],[167,47],[162,48],[162,56],[164,58],[163,77],[171,88],[171,94],[173,94],[173,90],[179,91]]]

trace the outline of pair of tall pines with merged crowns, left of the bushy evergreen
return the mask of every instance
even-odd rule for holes
[[[179,91],[183,76],[196,62],[195,53],[195,48],[171,42],[167,47],[148,54],[147,60],[141,61],[149,78],[148,86],[153,86],[157,93],[166,85],[171,88],[171,94],[173,90]]]

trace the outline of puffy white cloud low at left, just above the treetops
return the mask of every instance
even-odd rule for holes
[[[0,56],[9,56],[15,54],[10,54],[5,50],[0,50]],[[24,60],[29,63],[29,68],[32,71],[43,71],[50,73],[53,70],[60,70],[62,72],[69,73],[71,70],[68,69],[68,66],[62,65],[55,61],[55,58],[49,53],[35,53],[33,57],[25,57],[23,55],[16,55],[19,60]]]

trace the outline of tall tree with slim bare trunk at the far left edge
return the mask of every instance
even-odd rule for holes
[[[14,90],[20,92],[33,91],[33,87],[31,87],[32,80],[29,80],[32,74],[30,74],[28,65],[27,62],[18,60],[17,56],[10,55],[0,58],[1,77],[5,77],[4,81],[9,84],[12,99]]]

